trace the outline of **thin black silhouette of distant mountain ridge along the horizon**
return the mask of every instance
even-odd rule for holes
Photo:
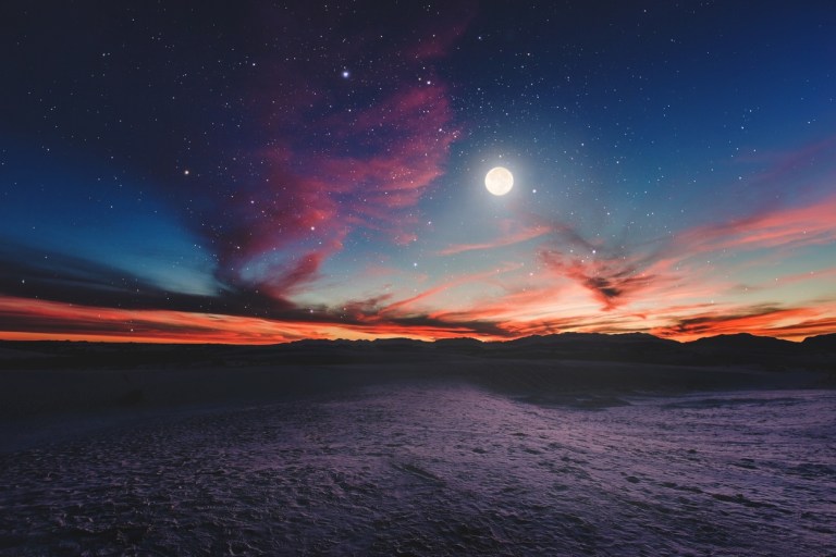
[[[759,366],[769,370],[836,369],[836,334],[792,343],[747,333],[679,343],[647,333],[560,333],[505,342],[444,338],[305,339],[266,346],[142,345],[61,341],[0,341],[0,367],[135,367],[159,362],[211,364],[361,363],[399,358],[557,359],[694,366]]]

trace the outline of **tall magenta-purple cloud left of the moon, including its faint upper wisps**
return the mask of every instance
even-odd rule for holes
[[[353,69],[343,76],[333,60],[266,61],[250,109],[262,145],[241,153],[235,193],[200,214],[219,280],[284,299],[316,282],[356,232],[396,245],[415,240],[416,206],[443,174],[460,134],[434,64],[471,14],[472,7],[456,2],[433,21],[418,17],[410,22],[411,44],[344,29],[334,51],[376,60],[357,76]],[[266,18],[274,16],[265,11]],[[438,18],[443,33],[434,28]],[[316,34],[299,25],[280,40],[296,51],[294,41]],[[318,40],[334,36],[321,29]]]

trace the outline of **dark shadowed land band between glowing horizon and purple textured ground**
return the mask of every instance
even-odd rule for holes
[[[458,382],[542,404],[628,394],[836,387],[836,335],[565,333],[508,342],[299,341],[268,346],[0,342],[0,417],[271,403],[392,382]],[[127,411],[127,410],[125,410]]]

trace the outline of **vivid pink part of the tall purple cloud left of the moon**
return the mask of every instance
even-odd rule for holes
[[[381,55],[402,63],[399,51]],[[432,72],[426,61],[407,63]],[[305,79],[304,72],[297,76]],[[311,100],[308,88],[293,87],[282,91],[280,113],[275,103],[262,101],[272,135],[259,153],[265,181],[249,195],[229,199],[223,224],[207,230],[225,282],[244,286],[242,270],[258,269],[245,286],[284,298],[316,281],[354,231],[379,233],[396,245],[417,238],[415,207],[444,173],[459,136],[447,88],[432,78],[366,95],[365,106],[339,109],[332,98]]]

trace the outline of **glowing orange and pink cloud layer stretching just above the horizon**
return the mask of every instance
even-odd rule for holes
[[[316,309],[297,306],[274,293],[258,295],[230,287],[220,295],[176,295],[136,277],[125,284],[119,270],[51,253],[49,267],[4,268],[0,286],[7,296],[0,299],[0,314],[5,323],[15,324],[15,334],[7,336],[20,338],[54,336],[56,331],[62,331],[58,336],[176,342],[270,343],[311,336],[502,339],[567,330],[646,331],[678,339],[741,331],[802,338],[832,331],[836,299],[800,305],[740,302],[739,292],[733,298],[723,294],[735,285],[718,280],[715,268],[694,264],[693,260],[736,247],[738,252],[742,248],[753,252],[769,248],[769,261],[775,249],[833,243],[836,233],[828,225],[832,214],[836,214],[836,197],[804,207],[771,208],[685,230],[648,252],[629,256],[607,253],[605,246],[591,248],[578,232],[563,225],[534,226],[494,244],[455,246],[439,257],[538,240],[531,250],[542,263],[543,282],[528,281],[519,287],[520,265],[506,264],[455,276],[407,297],[390,293]],[[566,256],[582,249],[587,250],[585,257]],[[60,276],[56,276],[57,261]],[[758,263],[747,260],[746,265]],[[29,283],[15,283],[13,276],[17,275],[28,276]],[[819,272],[776,276],[773,282],[804,288],[811,282],[828,283],[833,276],[836,269],[825,267]],[[119,281],[124,286],[114,288]],[[433,308],[433,297],[441,293],[490,281],[504,285],[507,294],[459,310]],[[763,293],[758,285],[751,290]],[[29,292],[49,292],[52,300],[27,298]],[[720,299],[694,301],[712,295]],[[539,312],[543,315],[533,317]]]

